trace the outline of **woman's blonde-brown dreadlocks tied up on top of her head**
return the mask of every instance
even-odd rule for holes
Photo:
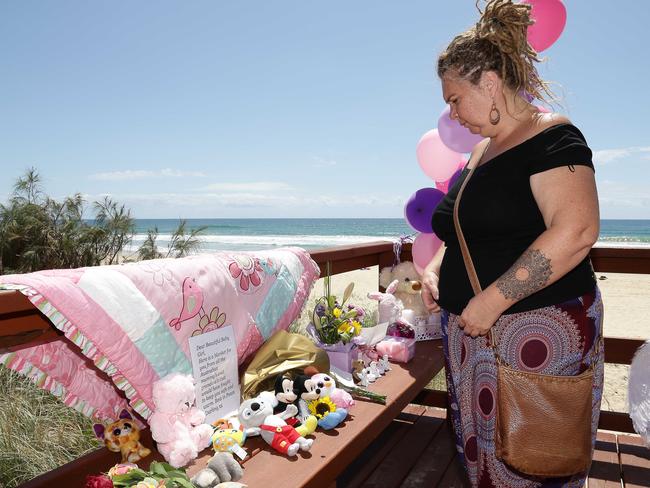
[[[484,71],[495,71],[515,93],[526,90],[533,97],[555,101],[548,83],[537,73],[540,59],[528,43],[530,5],[512,0],[489,0],[475,26],[456,36],[438,57],[438,76],[448,71],[478,84]]]

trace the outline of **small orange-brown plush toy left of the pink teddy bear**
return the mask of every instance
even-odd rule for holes
[[[120,418],[115,422],[108,425],[95,424],[93,430],[109,451],[122,453],[123,463],[137,463],[151,454],[149,449],[140,444],[140,429],[126,409],[120,412]]]

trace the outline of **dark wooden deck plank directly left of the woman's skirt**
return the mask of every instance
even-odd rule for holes
[[[402,483],[403,488],[425,488],[439,486],[440,480],[449,469],[449,465],[456,457],[456,446],[451,426],[446,421],[446,411],[436,411],[441,419],[441,426],[437,435],[429,443],[418,462]]]

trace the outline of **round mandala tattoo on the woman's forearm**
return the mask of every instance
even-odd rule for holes
[[[550,259],[538,249],[527,249],[496,285],[504,297],[518,301],[544,288],[550,276]]]

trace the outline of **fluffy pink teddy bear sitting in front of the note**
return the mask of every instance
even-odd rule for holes
[[[175,468],[195,459],[212,436],[212,426],[203,423],[205,414],[193,406],[194,398],[191,375],[172,373],[153,384],[151,436],[158,443],[158,451]]]

